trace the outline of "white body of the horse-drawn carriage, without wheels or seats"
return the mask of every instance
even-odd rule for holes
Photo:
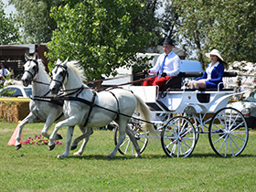
[[[174,89],[160,92],[157,86],[131,86],[130,90],[149,106],[153,121],[157,121],[157,113],[214,113],[226,107],[229,97],[236,94],[231,89]]]

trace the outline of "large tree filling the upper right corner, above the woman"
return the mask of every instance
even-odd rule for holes
[[[204,53],[218,48],[227,62],[255,62],[256,11],[254,0],[173,0],[182,19],[180,34],[197,48],[203,64]]]

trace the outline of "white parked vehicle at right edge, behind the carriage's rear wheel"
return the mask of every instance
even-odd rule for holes
[[[229,104],[239,110],[247,122],[248,127],[252,129],[256,128],[256,91],[253,91],[251,95],[242,101],[236,101]]]

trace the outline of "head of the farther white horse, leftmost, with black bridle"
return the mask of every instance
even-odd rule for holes
[[[21,78],[23,85],[27,87],[37,76],[38,72],[38,61],[37,54],[34,55],[33,59],[29,58],[27,54],[25,54],[26,63],[24,65],[24,74]]]

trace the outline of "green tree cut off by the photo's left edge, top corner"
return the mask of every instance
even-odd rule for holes
[[[0,1],[0,45],[13,44],[19,38],[16,18],[10,14],[5,15],[5,5]]]

